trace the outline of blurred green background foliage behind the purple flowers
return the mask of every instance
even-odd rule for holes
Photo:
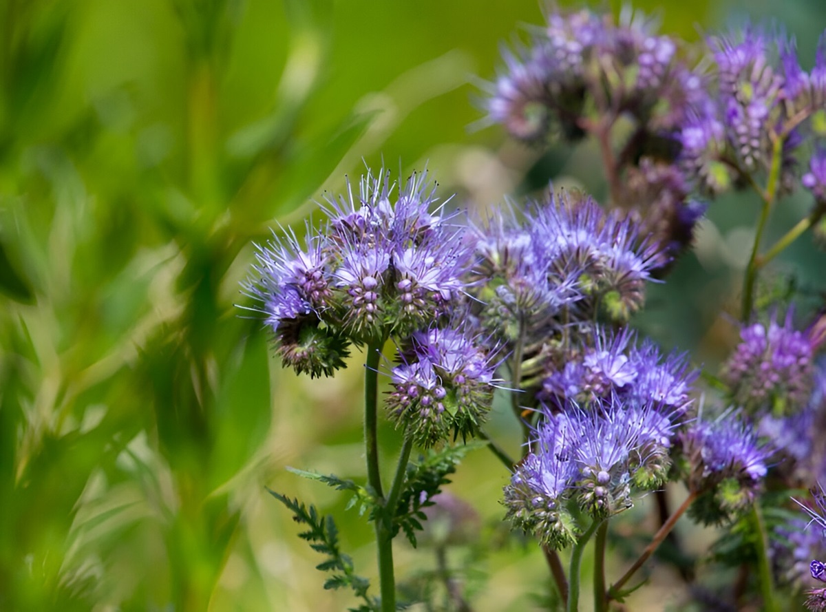
[[[820,0],[660,4],[634,6],[690,40],[779,17],[804,65],[826,25]],[[251,243],[382,159],[428,164],[461,206],[519,194],[537,168],[599,195],[587,147],[469,129],[500,45],[542,15],[537,0],[0,0],[0,610],[352,603],[321,591],[320,557],[264,486],[336,512],[374,576],[366,521],[283,469],[363,477],[361,356],[335,380],[282,371],[234,306]],[[757,205],[731,210],[712,209],[705,250],[649,301],[640,325],[667,346],[714,344],[742,265],[729,238]],[[786,210],[778,232],[805,202]],[[515,450],[505,417],[491,429]],[[382,438],[392,458],[396,433]],[[451,486],[483,542],[452,562],[470,563],[477,610],[528,610],[547,570],[504,543],[508,475],[488,454]],[[433,565],[396,548],[402,577]]]

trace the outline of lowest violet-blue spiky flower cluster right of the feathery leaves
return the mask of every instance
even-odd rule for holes
[[[505,487],[508,517],[553,548],[577,534],[569,503],[593,517],[633,505],[632,487],[662,485],[668,451],[678,425],[675,412],[652,403],[549,412],[534,432],[533,449]]]

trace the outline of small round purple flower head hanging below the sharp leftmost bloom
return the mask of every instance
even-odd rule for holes
[[[492,400],[498,364],[489,350],[490,344],[469,334],[467,327],[413,334],[401,350],[402,363],[392,368],[391,419],[425,447],[451,432],[463,439],[473,434]]]

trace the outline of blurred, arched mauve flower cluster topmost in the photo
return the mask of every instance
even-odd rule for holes
[[[550,14],[525,49],[506,55],[507,69],[487,103],[489,120],[522,140],[541,139],[551,126],[576,139],[596,97],[601,110],[627,113],[655,132],[674,130],[703,97],[702,79],[652,22],[623,21],[615,25],[589,11]]]

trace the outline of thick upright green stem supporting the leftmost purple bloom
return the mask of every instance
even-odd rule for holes
[[[396,612],[396,577],[393,575],[392,514],[385,505],[382,475],[378,468],[378,360],[383,342],[370,343],[364,369],[364,450],[368,485],[376,496],[376,549],[382,612]]]

